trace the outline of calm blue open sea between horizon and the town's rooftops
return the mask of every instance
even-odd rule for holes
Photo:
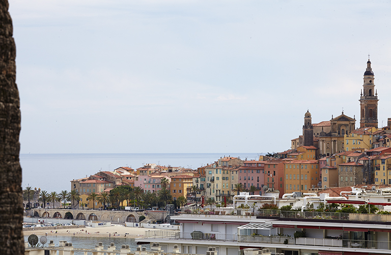
[[[119,167],[137,169],[145,164],[197,169],[233,156],[242,160],[258,160],[264,153],[72,153],[20,154],[22,188],[31,186],[50,192],[71,189],[71,180],[113,171]]]

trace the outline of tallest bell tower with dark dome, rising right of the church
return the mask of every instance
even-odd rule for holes
[[[367,70],[364,73],[360,97],[360,127],[377,127],[377,90],[375,90],[375,75],[372,72],[371,61],[368,58]]]

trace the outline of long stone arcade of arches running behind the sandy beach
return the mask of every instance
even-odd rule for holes
[[[146,220],[164,219],[167,215],[166,211],[104,211],[104,210],[82,210],[82,209],[31,209],[27,212],[27,216],[41,218],[63,218],[66,215],[72,214],[73,219],[79,220],[95,220],[95,221],[110,221],[110,222],[138,222],[140,216],[145,216]]]

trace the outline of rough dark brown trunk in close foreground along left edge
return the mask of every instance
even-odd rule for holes
[[[24,254],[20,110],[8,1],[0,0],[0,254]]]

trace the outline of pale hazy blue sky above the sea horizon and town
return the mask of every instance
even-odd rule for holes
[[[391,117],[390,1],[9,1],[21,153],[283,151],[368,54]]]

